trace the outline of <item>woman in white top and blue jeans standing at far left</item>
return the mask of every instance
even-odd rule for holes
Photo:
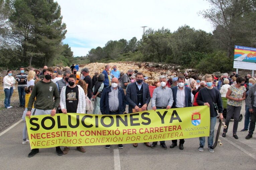
[[[15,83],[16,83],[14,77],[12,77],[11,70],[7,71],[7,74],[4,77],[3,83],[4,83],[4,94],[5,94],[4,106],[5,108],[9,109],[9,108],[12,108],[12,106],[10,106],[11,96],[12,96],[13,90],[15,89]]]

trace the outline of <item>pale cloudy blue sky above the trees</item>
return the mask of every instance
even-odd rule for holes
[[[143,29],[165,27],[171,31],[188,25],[212,32],[210,22],[198,14],[209,8],[204,0],[57,0],[63,22],[67,24],[66,39],[74,56],[103,47],[109,40],[141,39]]]

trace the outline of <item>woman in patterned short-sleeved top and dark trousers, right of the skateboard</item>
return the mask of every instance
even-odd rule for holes
[[[233,125],[233,137],[235,139],[238,139],[237,136],[237,127],[238,127],[238,122],[239,122],[239,116],[240,116],[240,111],[242,107],[242,100],[245,100],[245,87],[243,86],[244,84],[244,79],[242,77],[238,77],[236,82],[237,84],[231,85],[228,88],[228,92],[226,94],[226,98],[228,98],[227,101],[227,117],[225,124],[227,125],[227,128],[223,130],[223,137],[226,137],[226,133],[228,132],[228,127],[229,127],[229,121],[231,117],[234,117],[234,125]]]

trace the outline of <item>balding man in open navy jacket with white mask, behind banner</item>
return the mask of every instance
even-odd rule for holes
[[[102,114],[124,114],[125,112],[125,95],[123,88],[118,86],[118,79],[113,78],[111,86],[103,89],[100,100],[100,109]],[[118,144],[120,149],[122,144]],[[105,148],[110,148],[106,145]]]

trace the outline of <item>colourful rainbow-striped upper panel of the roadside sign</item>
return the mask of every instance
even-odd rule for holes
[[[235,46],[234,61],[256,63],[256,48]]]

